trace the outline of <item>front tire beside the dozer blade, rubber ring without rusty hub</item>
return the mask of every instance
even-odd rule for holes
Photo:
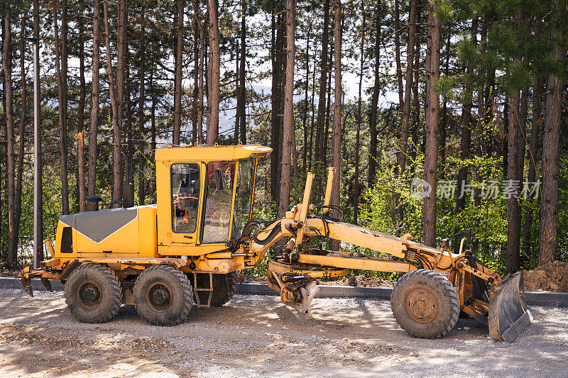
[[[429,290],[438,302],[432,321],[415,321],[406,310],[406,296],[413,289]],[[396,282],[391,296],[393,315],[400,326],[414,338],[441,338],[454,328],[459,317],[459,296],[454,286],[442,274],[429,269],[408,272]]]

